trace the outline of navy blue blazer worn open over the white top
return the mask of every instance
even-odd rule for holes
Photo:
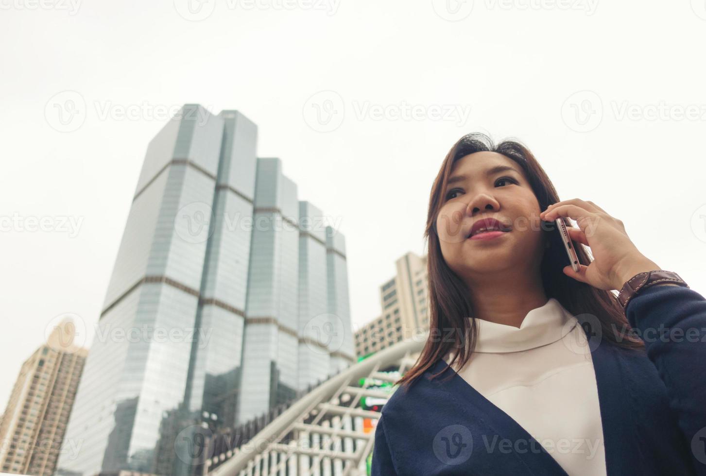
[[[706,299],[686,287],[652,286],[630,300],[627,314],[645,350],[600,340],[591,352],[606,472],[706,476]],[[453,379],[441,382],[448,372]],[[374,443],[373,476],[567,474],[443,359],[409,391],[393,393]]]

